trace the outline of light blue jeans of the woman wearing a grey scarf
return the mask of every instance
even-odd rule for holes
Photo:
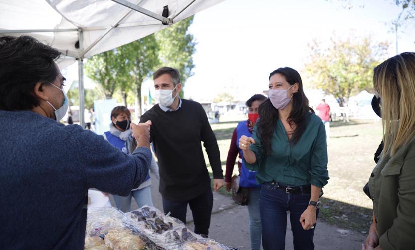
[[[153,206],[151,199],[151,186],[131,191],[128,196],[113,195],[115,204],[124,213],[131,211],[131,199],[134,196],[139,208],[144,205]]]

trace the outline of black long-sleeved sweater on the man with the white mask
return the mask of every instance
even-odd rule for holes
[[[160,193],[172,201],[186,201],[210,188],[210,177],[203,157],[206,149],[213,178],[223,179],[220,152],[202,105],[182,99],[176,111],[153,106],[140,122],[151,120],[150,136],[158,158]]]

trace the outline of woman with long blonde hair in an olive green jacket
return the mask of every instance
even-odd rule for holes
[[[415,53],[378,65],[373,83],[381,98],[384,149],[369,179],[373,223],[362,249],[414,249]]]

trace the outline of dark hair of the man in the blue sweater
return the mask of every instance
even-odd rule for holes
[[[0,37],[0,109],[31,110],[39,105],[38,82],[52,83],[59,74],[56,49],[31,36]]]

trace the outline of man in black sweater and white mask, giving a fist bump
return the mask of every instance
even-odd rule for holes
[[[176,69],[160,68],[153,79],[158,104],[140,120],[152,122],[150,137],[158,158],[164,212],[186,223],[189,204],[195,233],[208,236],[213,193],[201,142],[212,166],[213,189],[217,191],[224,181],[216,137],[202,105],[179,98],[182,84]]]

